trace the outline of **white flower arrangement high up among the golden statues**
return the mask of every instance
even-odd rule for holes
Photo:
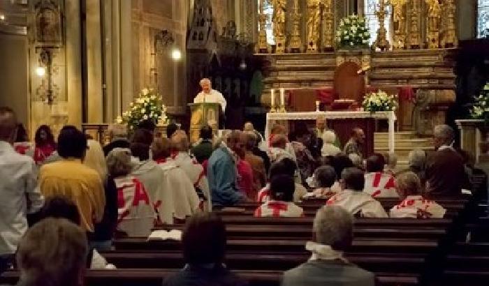
[[[340,20],[336,42],[340,47],[368,47],[370,33],[365,17],[349,15]]]

